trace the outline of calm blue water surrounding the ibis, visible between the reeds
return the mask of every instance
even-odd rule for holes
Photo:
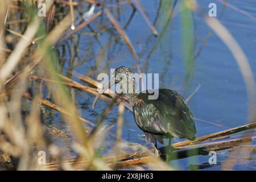
[[[158,2],[141,1],[151,22],[155,20],[159,6]],[[198,2],[206,12],[209,10],[208,5],[210,2],[217,4],[217,18],[240,44],[249,60],[254,78],[256,78],[256,19],[249,18],[229,7],[224,7],[218,1],[201,0]],[[256,2],[254,0],[233,0],[228,2],[238,9],[256,17]],[[160,10],[159,18],[155,22],[155,27],[159,31],[159,34],[163,34],[161,37],[152,35],[150,28],[148,28],[145,20],[138,11],[125,30],[137,52],[139,66],[142,72],[159,73],[160,87],[176,90],[184,98],[187,98],[197,86],[201,85],[199,90],[188,102],[196,118],[197,137],[248,123],[248,98],[240,68],[228,47],[225,46],[222,40],[210,30],[203,19],[196,13],[194,14],[195,54],[199,51],[203,45],[203,41],[209,34],[210,36],[207,38],[200,55],[195,60],[193,75],[191,76],[192,81],[188,85],[182,86],[185,75],[185,64],[181,44],[183,27],[178,11],[179,3],[177,3],[174,17],[169,24],[167,24],[167,10],[170,10],[171,6],[167,6],[168,1],[162,1],[162,3],[166,3],[166,5]],[[113,10],[115,17],[118,16],[117,6],[108,6],[108,8]],[[96,9],[96,11],[98,10]],[[123,5],[121,12],[119,23],[121,27],[124,27],[132,13],[132,9],[130,5]],[[167,28],[162,33],[164,26],[167,26]],[[86,33],[92,30],[100,33],[97,39],[93,35],[82,34],[82,32]],[[77,36],[78,34],[75,35],[76,38]],[[117,68],[120,65],[130,67],[134,72],[137,72],[135,61],[129,49],[119,37],[117,31],[110,26],[110,22],[105,15],[102,16],[102,19],[98,18],[91,23],[90,28],[83,28],[79,32],[79,36],[79,59],[81,59],[84,65],[77,67],[75,69],[77,72],[88,75],[93,70],[91,77],[96,78],[98,73],[109,73],[110,68]],[[99,53],[110,41],[110,46],[106,48],[102,60],[98,61],[101,59]],[[70,39],[68,43],[70,44]],[[148,56],[154,48],[155,50],[152,52],[152,55]],[[88,55],[85,56],[87,53]],[[70,54],[67,53],[66,56],[69,59]],[[77,58],[74,59],[75,63],[77,60]],[[99,66],[95,68],[98,62],[100,62]],[[67,67],[68,64],[65,65],[65,68]],[[77,104],[81,107],[80,112],[82,116],[90,121],[97,121],[101,113],[108,106],[108,103],[99,100],[96,109],[93,110],[91,107],[94,99],[93,96],[80,91],[77,91],[76,94]],[[118,107],[114,106],[105,123],[115,125],[118,115],[117,110]],[[221,126],[216,126],[209,122],[217,123]],[[115,133],[115,129],[114,127],[112,133]],[[145,144],[143,132],[138,129],[134,122],[133,114],[128,110],[125,111],[122,138],[129,142]],[[174,139],[174,142],[178,141],[180,139]],[[255,141],[253,143],[255,144]],[[225,160],[228,158],[229,150],[220,151],[218,154],[220,154],[218,155],[218,160]],[[195,156],[189,159],[171,162],[171,165],[177,169],[189,169],[189,164],[207,163],[208,159],[209,156]],[[221,166],[217,165],[204,170],[220,168]],[[235,166],[234,169],[255,170],[255,162],[240,164]]]

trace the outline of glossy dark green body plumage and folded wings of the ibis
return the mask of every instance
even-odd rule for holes
[[[148,140],[155,143],[155,138],[163,143],[162,137],[195,139],[193,115],[177,92],[159,89],[159,97],[156,100],[148,100],[148,95],[148,92],[138,94],[133,105],[135,122]]]

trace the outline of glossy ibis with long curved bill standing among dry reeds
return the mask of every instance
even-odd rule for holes
[[[159,154],[157,141],[163,143],[163,138],[169,138],[169,148],[171,148],[171,139],[187,138],[193,140],[196,137],[196,126],[191,110],[187,102],[177,92],[170,89],[159,89],[156,100],[148,99],[152,92],[139,93],[135,77],[130,68],[119,67],[115,69],[110,80],[109,87],[118,84],[126,76],[127,81],[122,81],[123,88],[133,88],[132,92],[126,92],[127,101],[133,106],[133,116],[139,129],[144,131],[146,140],[154,143],[156,154]],[[93,108],[98,98],[108,88],[102,89],[93,101]],[[152,90],[151,90],[152,91]]]

